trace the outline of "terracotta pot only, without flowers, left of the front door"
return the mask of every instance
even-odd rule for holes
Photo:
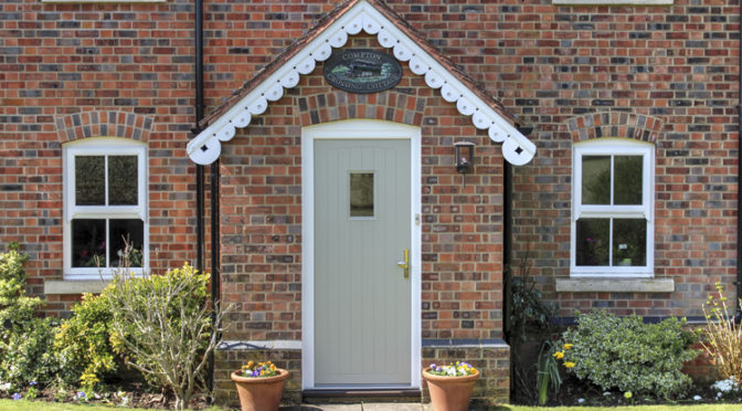
[[[280,404],[280,393],[289,372],[277,369],[275,377],[242,377],[241,371],[233,371],[230,377],[237,386],[242,411],[276,411]]]

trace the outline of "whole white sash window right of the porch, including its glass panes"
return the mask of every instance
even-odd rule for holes
[[[654,275],[654,146],[603,138],[574,146],[572,276]]]

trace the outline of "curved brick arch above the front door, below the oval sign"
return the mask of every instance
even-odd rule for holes
[[[425,101],[402,93],[351,94],[328,93],[298,98],[301,126],[320,123],[371,118],[421,126]]]

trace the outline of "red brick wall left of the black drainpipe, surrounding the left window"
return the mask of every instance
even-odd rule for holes
[[[82,138],[147,143],[150,266],[194,259],[191,3],[0,3],[0,244],[30,255],[31,293],[62,278],[62,145]]]

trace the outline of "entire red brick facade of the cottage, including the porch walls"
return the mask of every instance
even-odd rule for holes
[[[208,110],[333,8],[204,3]],[[736,6],[388,3],[533,126],[537,156],[513,168],[513,251],[531,250],[532,273],[561,316],[605,307],[693,317],[714,282],[733,291]],[[195,166],[186,154],[195,122],[193,20],[191,0],[0,3],[0,245],[18,241],[30,255],[31,293],[63,277],[62,147],[87,137],[148,146],[151,271],[195,259]],[[351,43],[383,51],[365,34]],[[227,339],[301,339],[300,129],[350,118],[422,129],[422,337],[502,337],[500,145],[403,68],[394,89],[357,95],[329,86],[318,64],[222,144],[222,296],[239,308]],[[675,292],[555,291],[555,278],[570,275],[572,145],[602,137],[656,147],[655,277],[672,278]],[[459,139],[477,144],[476,172],[465,187],[453,167]],[[45,297],[50,315],[67,315],[78,298]],[[501,377],[490,386],[502,388]]]

